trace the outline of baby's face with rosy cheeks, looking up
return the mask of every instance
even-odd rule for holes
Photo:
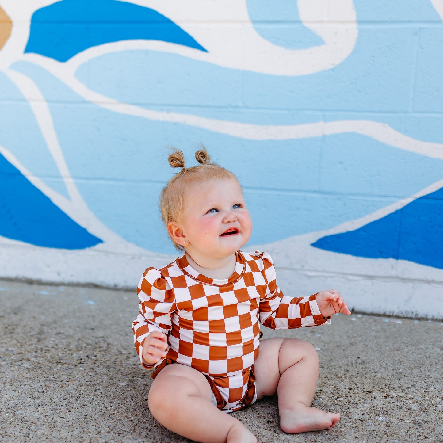
[[[180,223],[189,242],[187,252],[200,259],[225,258],[241,249],[252,233],[243,192],[234,179],[192,185],[185,194]]]

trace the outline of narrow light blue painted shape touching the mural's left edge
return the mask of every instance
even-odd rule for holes
[[[59,194],[68,193],[26,99],[0,72],[0,145],[33,175]]]

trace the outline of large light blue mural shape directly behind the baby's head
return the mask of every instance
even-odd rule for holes
[[[151,251],[174,251],[157,206],[161,188],[174,173],[161,156],[163,146],[184,148],[191,158],[194,146],[203,142],[213,160],[239,177],[254,221],[250,244],[331,228],[442,178],[441,160],[370,138],[244,140],[113,113],[81,103],[38,66],[20,63],[15,69],[33,78],[47,98],[68,167],[88,207],[114,232]],[[364,171],[362,177],[358,171]]]

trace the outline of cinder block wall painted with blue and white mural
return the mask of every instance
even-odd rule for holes
[[[0,276],[134,287],[199,143],[294,295],[443,317],[442,0],[0,0]]]

